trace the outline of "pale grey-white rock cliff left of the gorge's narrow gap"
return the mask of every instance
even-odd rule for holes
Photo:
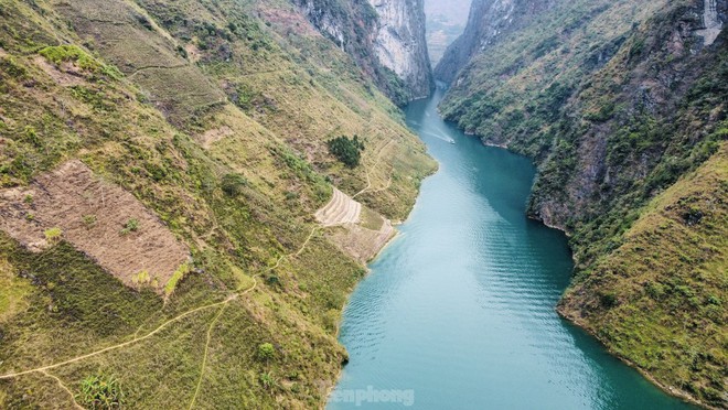
[[[346,51],[395,102],[432,87],[422,0],[293,0],[313,26]]]

